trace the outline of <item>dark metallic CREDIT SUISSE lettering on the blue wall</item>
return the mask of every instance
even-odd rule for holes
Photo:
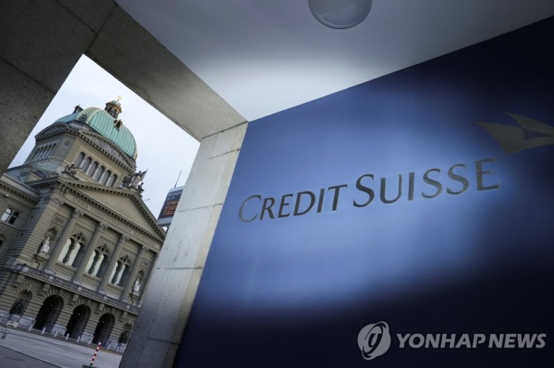
[[[415,172],[398,174],[394,179],[394,185],[388,183],[391,178],[376,178],[374,174],[360,176],[352,185],[341,184],[321,188],[319,192],[296,192],[283,194],[277,197],[263,197],[255,194],[244,199],[238,210],[240,221],[262,221],[265,219],[278,219],[290,216],[303,216],[310,212],[321,213],[324,205],[331,204],[331,210],[336,211],[343,194],[355,187],[355,198],[350,205],[357,208],[364,208],[370,205],[376,197],[382,203],[395,203],[404,198],[413,201],[414,196],[421,196],[425,199],[433,199],[446,192],[451,195],[458,195],[470,188],[470,180],[475,178],[475,189],[495,190],[499,189],[500,182],[494,178],[494,163],[496,158],[485,158],[476,160],[470,165],[456,163],[448,169],[434,167],[428,169],[420,176],[425,187],[415,192]],[[407,182],[407,184],[406,184]],[[406,188],[407,186],[407,188]],[[394,187],[395,190],[391,188]],[[375,189],[374,189],[375,188]],[[378,188],[378,189],[377,189]]]

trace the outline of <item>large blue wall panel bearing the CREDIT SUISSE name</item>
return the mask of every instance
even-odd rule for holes
[[[551,364],[552,39],[251,122],[177,366]]]

